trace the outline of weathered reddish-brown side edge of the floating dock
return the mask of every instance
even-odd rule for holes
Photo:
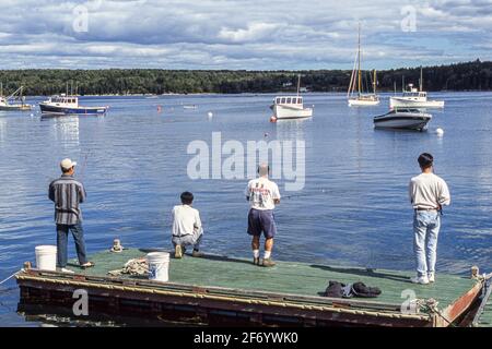
[[[96,297],[99,303],[101,300],[106,303],[103,306],[105,311],[116,314],[125,312],[125,301],[133,301],[152,304],[154,313],[169,306],[187,306],[204,317],[209,313],[222,312],[229,316],[243,314],[249,316],[253,323],[258,323],[263,316],[274,316],[306,326],[338,324],[446,327],[470,309],[483,287],[483,282],[477,280],[469,291],[438,313],[406,314],[401,312],[400,304],[374,301],[196,287],[132,278],[68,276],[37,269],[23,269],[15,277],[21,288],[21,301],[28,301],[34,289],[42,294],[44,302],[72,304],[73,291],[84,289],[89,297]]]

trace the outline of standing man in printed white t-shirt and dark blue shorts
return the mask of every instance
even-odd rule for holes
[[[260,236],[265,236],[265,256],[262,266],[274,266],[271,260],[273,238],[277,233],[277,226],[273,216],[276,205],[280,204],[279,186],[268,179],[269,167],[261,164],[258,167],[257,179],[248,182],[245,190],[246,200],[249,201],[250,209],[248,214],[248,234],[253,236],[253,264],[260,265],[259,246]]]

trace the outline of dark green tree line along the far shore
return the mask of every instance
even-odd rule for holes
[[[297,74],[301,86],[312,92],[345,92],[349,70],[246,71],[246,70],[2,70],[0,82],[8,95],[19,86],[24,94],[54,95],[68,91],[79,95],[196,94],[196,93],[277,93],[294,92]],[[364,85],[372,89],[371,72],[364,71]],[[377,72],[377,88],[401,91],[405,84],[419,85],[420,68],[401,68]],[[492,62],[456,63],[423,68],[426,91],[492,91]]]

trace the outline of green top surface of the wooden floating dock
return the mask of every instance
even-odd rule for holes
[[[99,252],[91,256],[95,267],[78,274],[108,276],[109,270],[120,269],[130,258],[143,257],[151,251],[128,249],[121,253]],[[290,293],[297,296],[321,296],[329,280],[343,284],[362,281],[367,286],[382,289],[376,299],[365,299],[380,303],[401,304],[414,291],[418,299],[435,299],[438,308],[444,309],[461,294],[470,290],[476,280],[469,277],[437,274],[435,284],[414,285],[409,281],[412,272],[386,269],[365,269],[336,267],[309,263],[277,262],[277,266],[267,268],[253,265],[250,260],[225,256],[204,256],[201,258],[185,255],[181,260],[171,258],[169,282],[199,287],[222,287],[241,290]],[[128,277],[128,276],[126,276]],[[488,305],[489,324],[491,308]]]

